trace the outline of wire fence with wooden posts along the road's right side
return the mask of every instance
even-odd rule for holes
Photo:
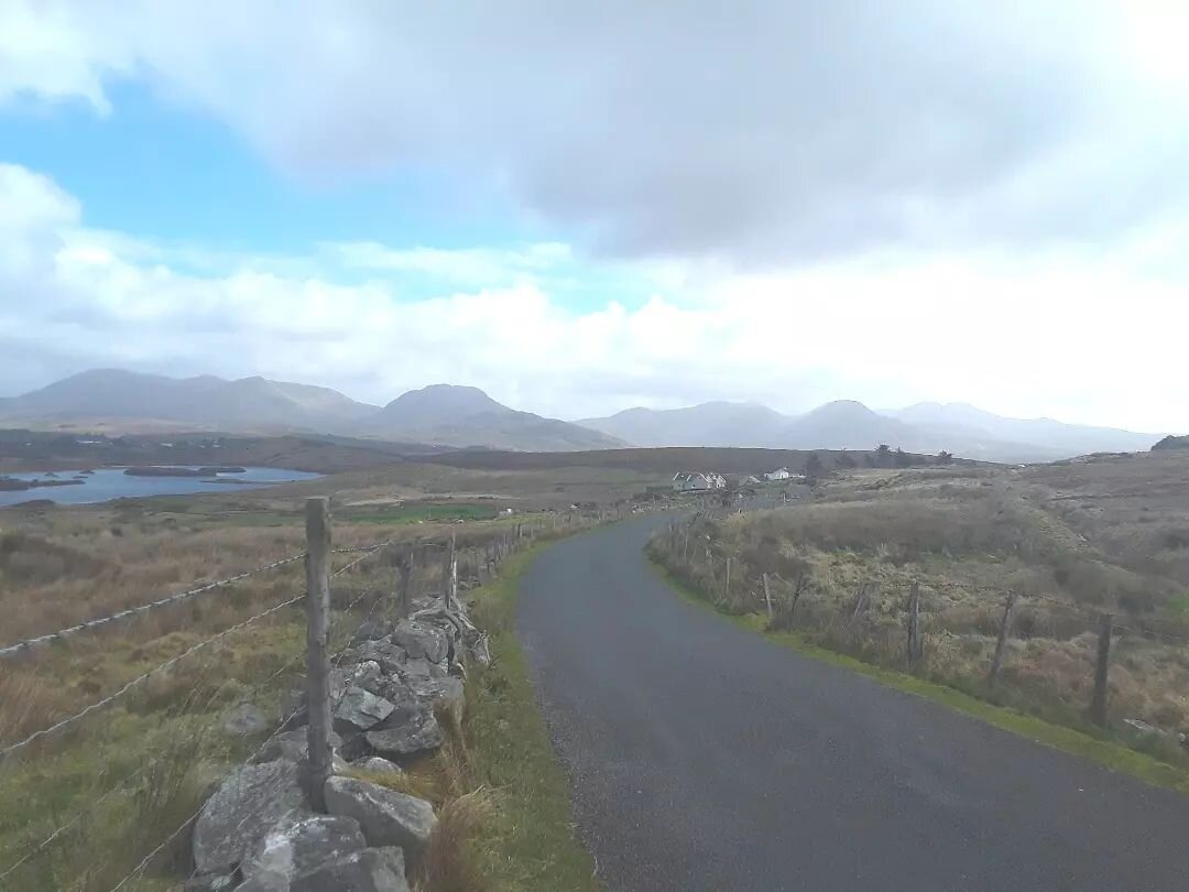
[[[1093,724],[1107,728],[1111,724],[1111,665],[1119,641],[1144,641],[1176,648],[1182,654],[1189,652],[1187,636],[1145,626],[1138,617],[1120,622],[1119,615],[1109,609],[1045,592],[938,582],[924,577],[891,582],[857,579],[847,585],[832,582],[826,591],[807,566],[786,570],[782,576],[775,567],[775,560],[770,561],[772,566],[762,559],[759,563],[763,566],[750,566],[743,555],[729,553],[715,536],[717,524],[729,513],[735,511],[711,507],[674,520],[654,534],[649,542],[652,557],[685,588],[726,613],[760,614],[767,617],[770,629],[810,634],[819,643],[870,662],[932,674],[929,643],[936,652],[943,636],[960,637],[958,633],[945,627],[944,596],[958,591],[979,595],[983,626],[990,626],[981,639],[989,637],[993,643],[981,683],[974,690],[994,697],[1004,685],[1006,670],[1011,668],[1012,642],[1044,637],[1037,634],[1037,628],[1019,635],[1021,611],[1044,605],[1053,630],[1057,628],[1053,611],[1070,617],[1062,622],[1062,628],[1067,629],[1062,640],[1094,636],[1094,654],[1086,685],[1089,696],[1083,704],[1083,715]],[[756,555],[749,557],[756,560]],[[1036,615],[1028,616],[1028,621],[1032,627],[1044,624],[1043,618]],[[1053,637],[1057,640],[1056,632]],[[1128,720],[1128,724],[1134,728],[1146,723]],[[1179,742],[1189,746],[1185,735]]]

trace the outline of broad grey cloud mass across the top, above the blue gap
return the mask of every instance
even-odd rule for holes
[[[298,176],[439,170],[604,255],[1102,246],[1189,209],[1177,0],[17,0],[0,99],[139,77]]]

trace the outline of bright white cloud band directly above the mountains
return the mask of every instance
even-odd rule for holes
[[[424,253],[372,245],[376,276],[364,283],[336,278],[334,265],[308,272],[326,247],[259,268],[239,257],[227,271],[195,275],[163,260],[168,250],[86,228],[71,196],[24,168],[0,165],[0,376],[10,394],[124,365],[262,373],[377,402],[433,382],[472,383],[568,417],[709,398],[782,409],[936,398],[1189,429],[1187,277],[1183,268],[1168,274],[1183,243],[1165,231],[1109,256],[1027,264],[986,252],[869,256],[786,274],[642,266],[652,300],[573,312],[551,291],[572,272],[572,255],[556,245],[436,251],[428,264],[417,260]],[[485,271],[514,270],[515,281],[459,287],[477,257]],[[405,277],[427,271],[435,295],[403,300]]]

